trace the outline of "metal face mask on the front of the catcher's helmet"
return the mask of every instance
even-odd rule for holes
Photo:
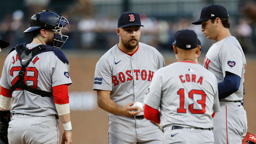
[[[68,24],[68,28],[64,28]],[[69,22],[65,17],[61,17],[59,22],[57,23],[57,26],[53,30],[54,33],[54,39],[53,39],[53,47],[61,49],[66,40],[69,36],[66,36],[62,34],[62,30],[68,30],[69,31]]]

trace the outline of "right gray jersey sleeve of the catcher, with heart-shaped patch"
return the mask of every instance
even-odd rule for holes
[[[59,58],[54,57],[56,63],[53,66],[52,73],[52,87],[63,85],[63,84],[72,84],[70,79],[67,64],[63,63]]]

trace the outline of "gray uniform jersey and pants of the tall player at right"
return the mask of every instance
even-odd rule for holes
[[[218,83],[225,78],[225,72],[238,75],[239,90],[220,100],[221,111],[213,118],[215,143],[242,143],[246,135],[246,111],[240,102],[244,97],[244,75],[246,60],[244,52],[233,36],[228,36],[214,43],[208,50],[203,66],[211,71]]]

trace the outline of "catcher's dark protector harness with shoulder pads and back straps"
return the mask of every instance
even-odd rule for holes
[[[39,45],[32,49],[27,49],[26,45],[27,45],[27,43],[17,44],[10,51],[10,53],[11,53],[12,51],[16,50],[16,52],[18,53],[18,56],[20,57],[20,63],[21,63],[21,70],[19,71],[19,74],[18,74],[18,80],[11,87],[11,91],[13,92],[16,89],[23,89],[23,90],[32,92],[33,94],[41,95],[42,97],[51,97],[52,92],[33,89],[32,87],[25,85],[24,74],[26,71],[26,67],[31,62],[31,60],[34,56],[36,56],[39,53],[48,52],[48,51],[53,51],[55,53],[55,55],[60,60],[62,60],[63,63],[69,64],[69,61],[66,58],[65,54],[58,48],[54,48],[49,45]]]

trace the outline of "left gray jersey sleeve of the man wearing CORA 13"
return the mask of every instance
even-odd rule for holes
[[[158,74],[158,71],[156,71],[149,85],[148,92],[144,97],[144,103],[158,110],[160,107],[161,94],[162,94],[162,80],[161,80],[161,76]]]

